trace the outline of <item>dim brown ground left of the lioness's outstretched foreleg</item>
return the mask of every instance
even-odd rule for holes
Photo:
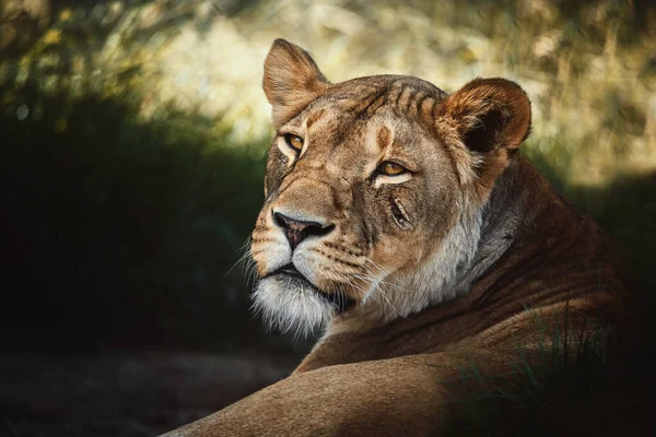
[[[0,435],[153,436],[284,378],[293,366],[255,353],[0,355]]]

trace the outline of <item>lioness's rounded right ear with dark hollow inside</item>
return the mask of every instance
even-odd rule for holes
[[[505,79],[475,79],[446,99],[441,115],[467,149],[479,153],[515,150],[530,131],[530,102]]]

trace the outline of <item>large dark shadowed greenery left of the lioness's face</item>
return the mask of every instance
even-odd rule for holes
[[[33,110],[0,119],[3,340],[60,350],[259,339],[247,288],[226,272],[261,202],[261,145],[225,147],[195,116],[141,123],[115,99],[28,87],[21,98],[16,110]]]

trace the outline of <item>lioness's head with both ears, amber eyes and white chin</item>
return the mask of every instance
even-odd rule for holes
[[[250,249],[270,323],[390,319],[467,288],[482,206],[530,120],[517,128],[507,104],[528,106],[520,88],[491,81],[452,97],[408,76],[333,85],[301,48],[274,43],[263,87],[277,135]]]

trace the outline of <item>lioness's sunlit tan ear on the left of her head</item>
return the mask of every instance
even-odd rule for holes
[[[273,107],[276,128],[324,94],[328,85],[307,51],[284,39],[273,42],[265,61],[262,87]]]

